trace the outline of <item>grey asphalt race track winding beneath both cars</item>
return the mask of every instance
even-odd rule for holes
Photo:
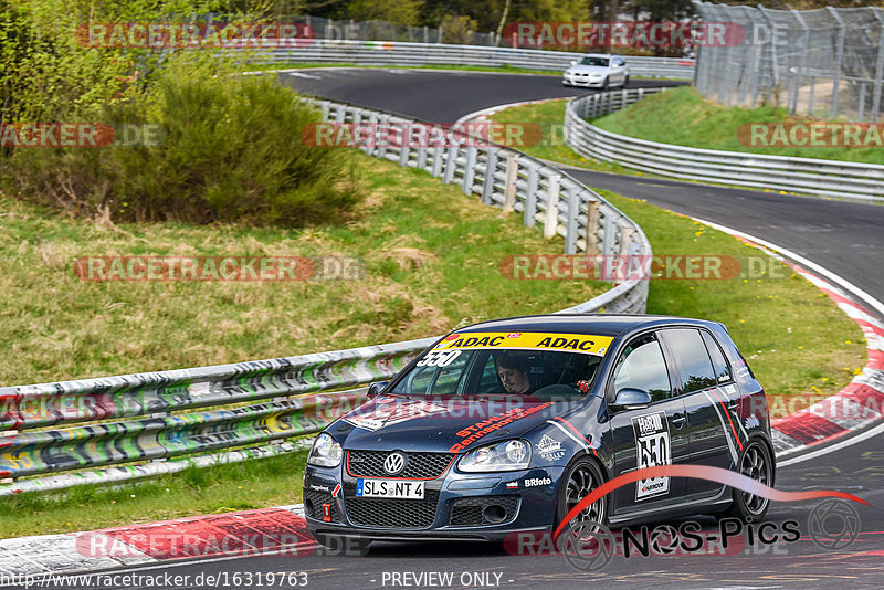
[[[306,70],[283,74],[294,88],[424,120],[451,123],[493,105],[592,92],[565,88],[555,76],[407,70]],[[633,84],[657,85],[634,81]],[[884,299],[884,207],[832,202],[698,186],[695,183],[591,171],[572,172],[592,187],[646,199],[666,209],[746,232],[791,250]],[[873,432],[874,433],[874,432]],[[453,573],[452,588],[881,588],[884,586],[884,449],[881,436],[860,434],[823,454],[791,459],[778,470],[777,488],[838,489],[870,506],[855,505],[859,539],[848,549],[829,551],[809,537],[815,501],[772,503],[767,519],[798,523],[794,542],[738,549],[735,555],[665,557],[614,556],[600,572],[572,569],[562,556],[511,555],[482,544],[375,544],[366,557],[312,555],[215,561],[186,561],[161,567],[170,573],[219,571],[306,571],[308,588],[428,588],[438,578],[411,575]],[[709,534],[713,518],[698,518]],[[746,535],[743,537],[746,539]],[[745,541],[748,544],[748,541]],[[127,568],[137,571],[138,568]],[[484,572],[486,576],[473,576]],[[403,577],[408,573],[408,577]],[[498,576],[499,575],[499,576]],[[433,583],[433,582],[436,583]],[[408,582],[408,583],[404,583]],[[418,582],[418,583],[415,583]]]

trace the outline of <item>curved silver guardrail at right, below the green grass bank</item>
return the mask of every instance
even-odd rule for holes
[[[884,200],[884,166],[699,149],[601,129],[600,117],[666,88],[594,93],[568,102],[565,137],[579,154],[673,178],[861,200]]]

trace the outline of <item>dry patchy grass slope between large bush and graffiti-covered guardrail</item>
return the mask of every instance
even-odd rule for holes
[[[561,251],[518,215],[425,172],[352,154],[366,196],[303,230],[71,220],[0,199],[0,384],[98,377],[422,338],[586,301],[597,283],[515,284],[511,254]],[[91,282],[81,256],[347,256],[361,280]],[[469,272],[464,272],[469,270]]]

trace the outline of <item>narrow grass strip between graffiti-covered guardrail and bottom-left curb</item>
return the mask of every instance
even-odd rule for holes
[[[0,498],[0,538],[91,530],[301,502],[307,452],[189,467],[118,486]]]

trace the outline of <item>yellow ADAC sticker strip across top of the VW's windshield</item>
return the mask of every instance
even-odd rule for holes
[[[587,334],[557,334],[547,331],[469,331],[452,334],[433,347],[433,350],[453,348],[516,348],[522,350],[562,350],[603,356],[611,346],[611,336]]]

